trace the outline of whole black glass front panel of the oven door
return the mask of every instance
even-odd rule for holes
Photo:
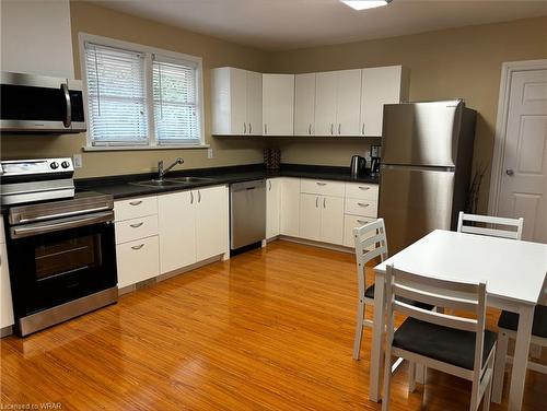
[[[19,317],[117,284],[114,224],[10,238],[8,257]]]

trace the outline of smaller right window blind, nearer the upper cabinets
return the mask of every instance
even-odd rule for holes
[[[153,96],[158,144],[200,142],[197,70],[191,63],[159,60],[154,56]]]

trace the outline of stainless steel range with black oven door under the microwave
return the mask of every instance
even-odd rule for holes
[[[114,200],[74,192],[70,158],[0,162],[15,332],[117,301]]]

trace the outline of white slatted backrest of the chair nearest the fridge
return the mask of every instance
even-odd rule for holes
[[[384,219],[353,228],[357,258],[357,279],[359,295],[364,295],[366,286],[365,267],[373,258],[380,257],[382,261],[387,258],[387,238],[385,235]]]

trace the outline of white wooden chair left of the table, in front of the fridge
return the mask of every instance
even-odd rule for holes
[[[374,284],[366,287],[366,263],[376,257],[380,257],[382,261],[387,258],[387,238],[384,219],[377,219],[372,223],[353,228],[353,238],[356,242],[357,279],[359,283],[353,359],[359,360],[363,328],[373,327],[373,321],[365,318],[366,305],[374,306]],[[407,301],[407,303],[416,304],[416,302],[411,301]],[[421,307],[424,309],[432,308],[427,304],[421,305]]]

